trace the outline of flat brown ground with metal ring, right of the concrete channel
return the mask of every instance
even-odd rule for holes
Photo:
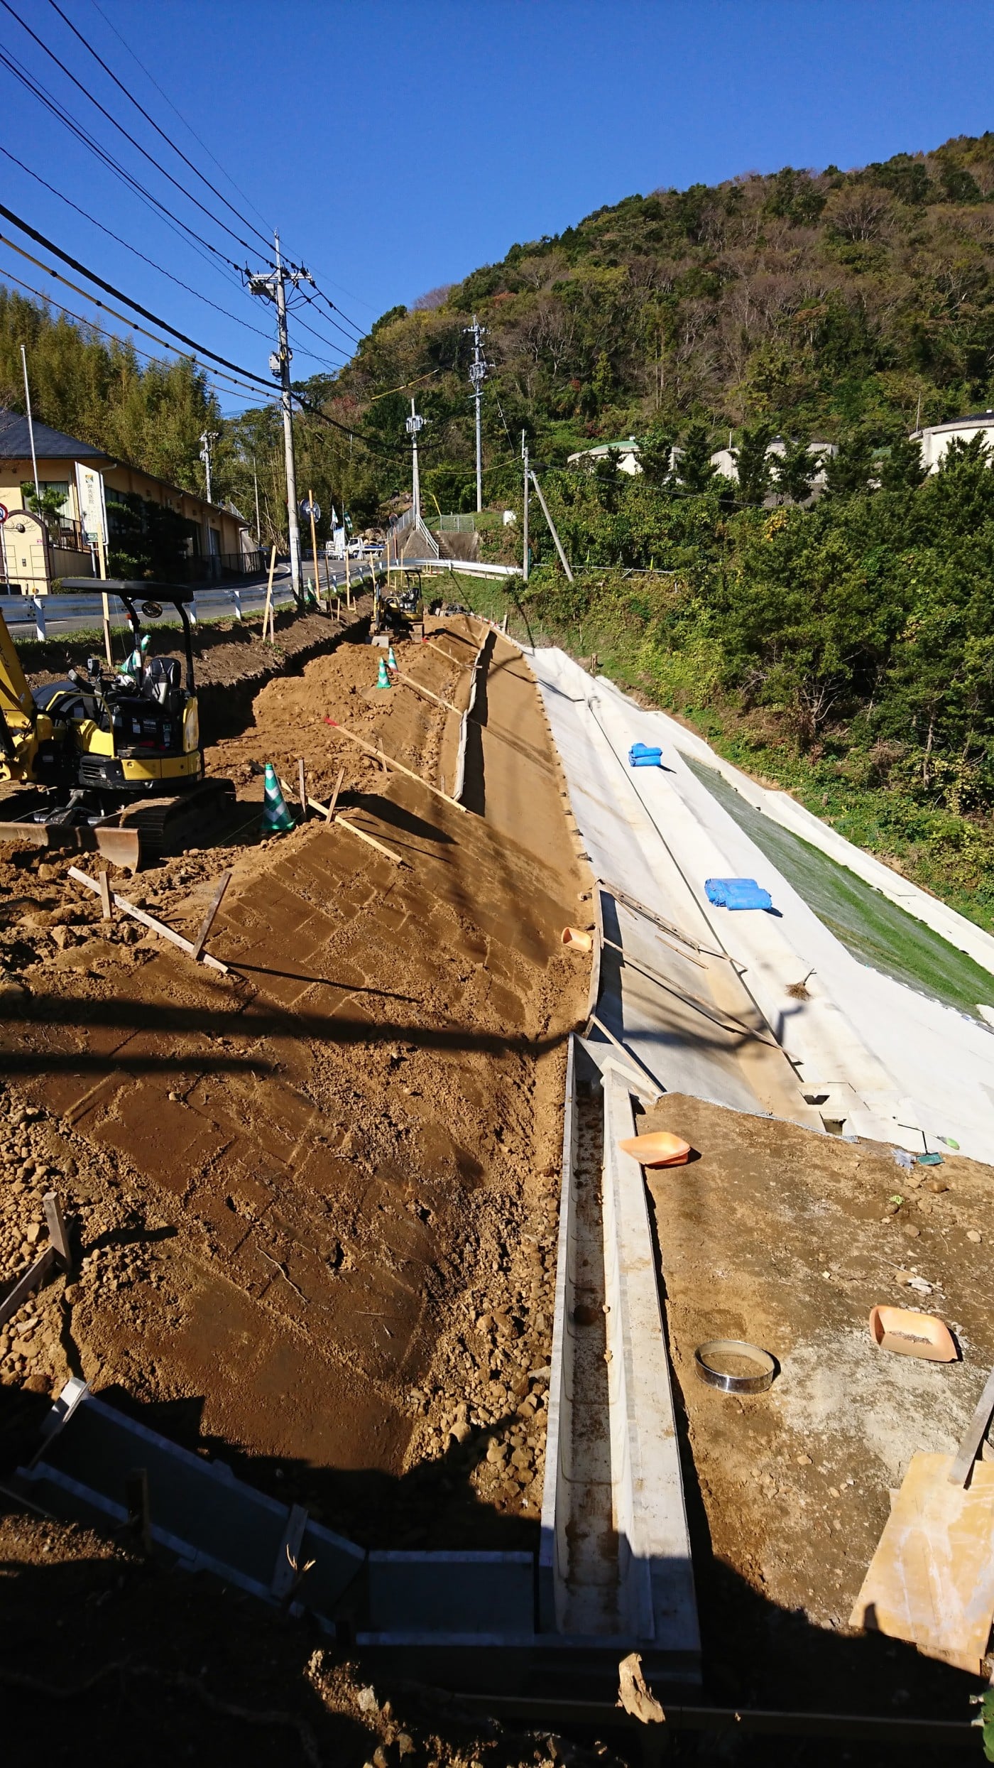
[[[697,1156],[647,1179],[716,1697],[964,1718],[969,1678],[847,1623],[888,1490],[914,1450],[955,1452],[994,1363],[990,1170],[948,1155],[902,1172],[879,1144],[677,1094],[638,1128]],[[874,1303],[939,1314],[962,1361],[879,1351]],[[707,1338],[771,1351],[773,1388],[706,1386]]]

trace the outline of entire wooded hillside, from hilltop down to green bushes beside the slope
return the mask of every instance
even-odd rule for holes
[[[493,362],[486,497],[520,509],[524,428],[578,568],[570,587],[536,513],[518,628],[598,651],[990,923],[994,474],[973,449],[925,481],[907,435],[994,403],[994,134],[633,196],[384,315],[338,412],[396,444],[409,394],[377,394],[416,382],[428,497],[447,509],[474,504],[474,311]],[[738,488],[709,469],[729,431]],[[642,477],[559,470],[626,435]],[[840,453],[801,507],[810,438]],[[782,507],[761,507],[769,490]]]

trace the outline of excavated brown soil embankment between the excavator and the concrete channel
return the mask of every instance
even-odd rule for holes
[[[439,644],[456,661],[405,644],[398,663],[451,698],[476,642]],[[0,1368],[35,1391],[80,1368],[359,1540],[497,1542],[529,1535],[541,1492],[562,1040],[585,981],[557,935],[582,877],[568,840],[539,859],[324,723],[446,767],[458,721],[378,693],[378,656],[347,644],[271,682],[209,762],[253,822],[264,760],[290,774],[304,753],[315,797],[345,766],[340,803],[403,866],[310,822],[127,889],[193,930],[232,866],[210,939],[230,979],[124,921],[108,935],[58,863],[2,870],[5,1066],[42,1110],[9,1135],[5,1252],[27,1257],[57,1176],[90,1250]],[[504,746],[490,771],[561,817],[536,755]]]

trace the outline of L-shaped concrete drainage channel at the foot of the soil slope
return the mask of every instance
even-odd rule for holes
[[[638,1650],[660,1687],[700,1680],[670,1376],[631,1077],[570,1040],[541,1545],[366,1551],[69,1381],[23,1496],[313,1614],[380,1665],[446,1685],[614,1694]],[[603,1163],[601,1163],[603,1155]]]

